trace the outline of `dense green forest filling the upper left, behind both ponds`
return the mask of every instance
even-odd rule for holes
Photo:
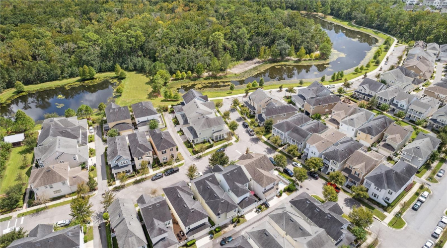
[[[249,60],[263,47],[285,57],[330,45],[284,1],[4,0],[0,14],[2,89],[75,77],[84,65],[172,74],[228,55]]]

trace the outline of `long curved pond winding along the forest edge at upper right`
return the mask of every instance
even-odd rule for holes
[[[329,63],[320,63],[314,65],[279,65],[272,66],[256,75],[246,78],[240,81],[228,81],[221,82],[218,86],[227,87],[228,83],[235,85],[247,84],[258,81],[261,77],[265,82],[279,81],[279,80],[292,80],[292,79],[309,79],[319,78],[323,75],[331,76],[336,71],[347,70],[356,67],[366,57],[367,53],[377,43],[377,39],[367,33],[363,33],[356,30],[351,30],[343,26],[328,22],[313,16],[306,16],[312,18],[315,23],[321,25],[321,28],[326,31],[331,39],[333,46],[332,49],[341,53],[336,60]],[[216,88],[216,83],[208,83],[197,85],[196,89]],[[179,88],[181,93],[188,90],[191,85],[185,85]]]

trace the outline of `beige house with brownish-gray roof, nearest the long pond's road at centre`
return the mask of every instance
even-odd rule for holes
[[[280,106],[284,105],[284,103],[270,92],[258,88],[248,95],[248,99],[244,102],[244,105],[250,110],[251,114],[257,116],[266,107]]]

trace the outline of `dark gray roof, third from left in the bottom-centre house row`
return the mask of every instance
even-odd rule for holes
[[[199,201],[193,199],[193,192],[185,181],[163,188],[166,198],[185,227],[208,218],[208,214]],[[191,230],[192,231],[192,230]]]

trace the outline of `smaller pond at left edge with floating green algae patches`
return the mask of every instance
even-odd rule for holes
[[[38,121],[43,120],[46,113],[56,112],[64,116],[66,109],[76,111],[82,104],[98,108],[99,103],[107,103],[107,99],[112,96],[113,84],[104,80],[92,85],[80,85],[70,89],[59,87],[19,96],[9,104],[2,105],[0,112],[3,117],[11,117],[17,110],[22,110]]]

